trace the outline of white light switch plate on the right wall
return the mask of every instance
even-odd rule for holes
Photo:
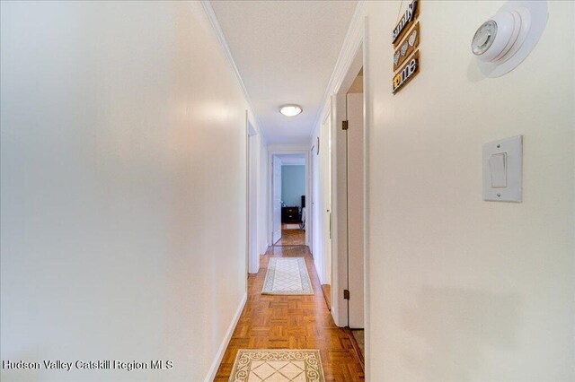
[[[490,159],[492,155],[497,154],[506,154],[507,187],[491,187],[493,174],[491,174]],[[523,135],[483,144],[483,200],[521,203],[523,201],[522,172]],[[500,174],[496,174],[496,176],[500,176]]]

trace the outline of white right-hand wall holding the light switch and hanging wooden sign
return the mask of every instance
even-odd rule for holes
[[[421,73],[395,96],[400,1],[366,4],[371,380],[575,379],[575,3],[488,79],[470,41],[501,4],[422,2]],[[512,135],[523,203],[483,202],[482,144]]]

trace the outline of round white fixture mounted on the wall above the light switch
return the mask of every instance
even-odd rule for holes
[[[521,64],[547,24],[547,1],[509,1],[483,22],[471,43],[482,74],[500,77]]]

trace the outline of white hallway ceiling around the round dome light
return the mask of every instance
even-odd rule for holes
[[[306,144],[357,1],[212,1],[269,144]],[[297,117],[279,114],[296,103]]]

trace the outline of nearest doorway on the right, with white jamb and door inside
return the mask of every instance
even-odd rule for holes
[[[367,318],[367,172],[364,50],[349,63],[332,96],[332,316],[345,327],[363,364],[368,348]],[[365,343],[365,345],[364,345]]]

